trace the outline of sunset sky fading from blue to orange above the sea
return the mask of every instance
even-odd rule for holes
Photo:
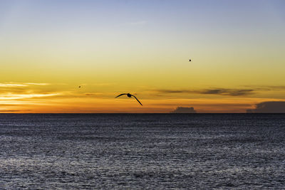
[[[282,0],[0,0],[0,112],[246,112],[283,101],[284,9]]]

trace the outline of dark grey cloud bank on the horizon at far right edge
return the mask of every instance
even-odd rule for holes
[[[285,113],[285,102],[261,102],[253,110],[247,110],[247,113]]]

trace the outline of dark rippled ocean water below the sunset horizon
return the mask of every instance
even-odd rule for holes
[[[0,114],[0,189],[285,189],[282,114]]]

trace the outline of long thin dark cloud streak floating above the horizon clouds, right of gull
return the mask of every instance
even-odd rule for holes
[[[203,90],[156,90],[157,93],[190,93],[203,95],[251,95],[254,93],[253,89],[229,89],[229,88],[210,88]]]

